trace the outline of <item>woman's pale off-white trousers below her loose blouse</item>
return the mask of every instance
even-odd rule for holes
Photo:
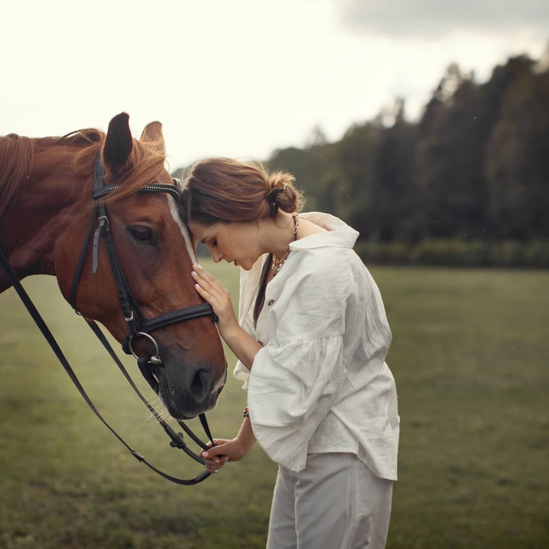
[[[299,473],[278,467],[267,549],[382,549],[393,482],[352,453],[313,453]]]

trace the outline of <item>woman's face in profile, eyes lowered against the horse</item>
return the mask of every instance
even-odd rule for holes
[[[234,263],[249,271],[263,253],[259,246],[258,223],[255,221],[214,225],[189,221],[188,225],[199,242],[208,246],[216,263],[224,259],[227,263]]]

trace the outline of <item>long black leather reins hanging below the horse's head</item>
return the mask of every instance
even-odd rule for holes
[[[192,486],[192,485],[198,484],[199,482],[201,482],[204,479],[208,478],[210,476],[210,473],[208,473],[207,471],[203,471],[196,478],[190,479],[190,480],[184,480],[184,479],[172,477],[171,475],[169,475],[167,473],[164,473],[160,469],[154,467],[147,460],[145,460],[145,458],[141,455],[141,453],[139,453],[137,450],[135,450],[131,446],[129,446],[127,444],[127,442],[124,439],[122,439],[121,436],[118,433],[116,433],[116,431],[109,425],[109,423],[101,415],[99,410],[97,410],[96,406],[93,404],[92,400],[87,395],[87,393],[84,390],[83,386],[81,385],[79,379],[76,377],[76,374],[72,370],[69,362],[66,360],[65,356],[63,355],[63,351],[61,351],[59,345],[57,344],[57,341],[55,341],[55,338],[53,337],[53,334],[49,330],[46,322],[44,322],[43,318],[40,316],[40,313],[37,311],[35,305],[31,301],[31,299],[29,297],[29,294],[26,293],[25,289],[23,288],[23,285],[21,285],[21,283],[19,282],[19,278],[17,277],[17,275],[16,275],[15,271],[13,270],[12,266],[9,265],[8,260],[5,258],[5,256],[4,256],[1,249],[0,249],[0,264],[2,265],[5,272],[7,273],[10,281],[13,284],[13,287],[15,288],[15,291],[18,293],[19,297],[21,298],[21,301],[23,301],[23,304],[25,305],[27,311],[29,311],[29,313],[32,317],[32,320],[35,321],[36,325],[38,326],[38,328],[42,332],[42,335],[44,336],[46,341],[49,343],[49,346],[51,346],[53,352],[55,353],[55,356],[57,356],[59,362],[61,362],[61,365],[63,365],[63,367],[65,368],[66,373],[69,375],[72,383],[74,383],[76,388],[79,390],[79,393],[82,395],[82,397],[86,401],[87,405],[91,408],[93,413],[96,414],[96,416],[105,425],[105,427],[107,427],[110,430],[110,432],[113,433],[114,436],[116,436],[116,438],[127,448],[127,450],[131,453],[131,455],[133,457],[135,457],[138,461],[144,463],[147,467],[152,469],[155,473],[158,473],[159,475],[161,475],[161,477],[164,477],[165,479],[170,480],[170,481],[172,481],[173,483],[176,483],[176,484],[181,484],[181,485],[184,485],[184,486]],[[97,328],[98,332],[100,332],[97,325],[96,325],[96,328]],[[94,328],[92,328],[92,329],[93,329],[94,332],[96,332],[96,330]],[[96,332],[96,335],[97,335],[97,332]],[[102,337],[103,337],[103,339],[105,339],[103,334],[102,334]],[[99,338],[99,339],[102,339],[102,338]],[[105,339],[105,341],[107,341],[107,340]],[[109,345],[108,341],[107,341],[107,345],[108,345],[108,348],[110,348],[110,345]],[[112,348],[111,348],[111,350],[112,350]],[[116,356],[114,354],[114,351],[113,351],[113,354],[111,356],[113,356],[113,358],[114,358],[114,356]],[[116,362],[119,362],[119,361],[116,359]],[[127,379],[130,378],[130,376],[129,376],[129,374],[127,374],[127,371],[125,370],[124,366],[121,366],[121,369],[122,369],[122,373],[124,373],[124,375],[127,376]],[[133,385],[133,382],[131,381],[131,378],[130,378],[130,383]],[[135,389],[137,390],[137,388],[135,388]],[[137,391],[137,393],[139,395],[141,395],[141,393],[139,393],[139,391]],[[148,405],[148,402],[146,402],[146,404]],[[155,417],[157,417],[158,412],[154,411],[152,406],[148,405],[148,407],[149,407],[149,410],[151,410],[151,412],[153,413],[153,415]],[[192,452],[191,450],[189,450],[187,448],[187,445],[184,442],[183,436],[182,436],[181,433],[179,433],[179,434],[174,433],[173,430],[170,428],[170,426],[167,425],[165,422],[161,422],[161,424],[163,424],[164,429],[166,430],[166,432],[172,438],[171,446],[180,448],[181,450],[185,451],[188,455],[193,457],[193,459],[197,460],[200,463],[204,463],[204,460],[202,458],[198,457],[197,455],[194,454],[194,452]],[[208,436],[210,436],[209,435],[209,429],[208,429],[208,432],[206,434],[208,434]],[[207,448],[207,446],[205,446],[205,445],[203,447]]]

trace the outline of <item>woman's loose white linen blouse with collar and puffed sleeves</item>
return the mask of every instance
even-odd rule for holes
[[[290,243],[282,270],[254,305],[267,255],[240,271],[240,325],[263,347],[248,389],[254,435],[276,463],[298,472],[307,453],[354,453],[378,477],[396,480],[396,388],[384,362],[391,342],[379,289],[352,250],[358,232],[337,217],[302,214],[329,232]]]

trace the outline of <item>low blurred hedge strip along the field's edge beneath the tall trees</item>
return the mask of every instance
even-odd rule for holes
[[[549,240],[427,239],[417,245],[359,240],[355,250],[366,264],[549,268]]]

